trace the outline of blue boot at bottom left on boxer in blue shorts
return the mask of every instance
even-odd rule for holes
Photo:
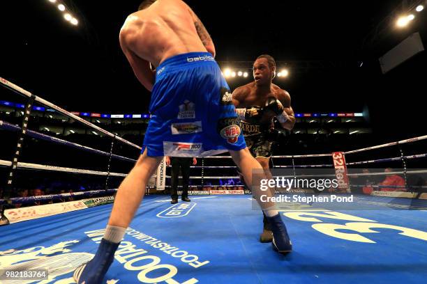
[[[77,284],[100,284],[103,281],[107,270],[110,268],[114,260],[114,253],[119,247],[120,243],[113,243],[105,239],[101,242],[96,251],[96,255],[91,261],[77,267],[75,269],[73,278]]]

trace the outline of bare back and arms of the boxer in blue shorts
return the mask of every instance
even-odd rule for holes
[[[155,77],[150,63],[157,67],[167,58],[188,52],[215,56],[211,36],[181,0],[158,0],[129,15],[120,31],[120,45],[137,79],[148,90]]]

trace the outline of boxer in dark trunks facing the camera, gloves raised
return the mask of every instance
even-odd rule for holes
[[[276,140],[274,129],[272,129],[272,120],[275,116],[278,116],[280,125],[287,130],[292,130],[295,124],[289,93],[271,83],[274,79],[275,71],[276,61],[274,61],[273,57],[267,54],[258,56],[255,63],[253,63],[255,81],[235,89],[232,94],[233,104],[238,108],[237,111],[241,113],[240,126],[244,133],[246,145],[248,145],[250,154],[264,168],[268,178],[271,178],[269,171],[269,162],[272,155],[271,148]],[[276,108],[274,110],[271,109],[273,105]],[[255,113],[256,111],[257,115],[245,117],[242,113],[246,114],[247,111],[250,113]],[[285,112],[283,113],[283,111]],[[260,235],[260,242],[271,242],[273,232],[271,232],[271,226],[265,214],[263,223],[264,228]]]

